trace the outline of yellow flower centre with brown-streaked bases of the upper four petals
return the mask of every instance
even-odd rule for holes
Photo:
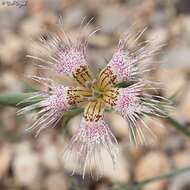
[[[71,90],[71,102],[100,101],[104,105],[115,105],[118,90],[113,87],[115,76],[113,77],[110,69],[103,70],[96,79],[86,66],[80,66],[76,72],[73,72],[73,76],[80,86],[77,90]]]

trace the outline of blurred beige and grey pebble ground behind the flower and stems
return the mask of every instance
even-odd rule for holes
[[[101,31],[89,41],[89,62],[100,67],[110,58],[122,32],[137,22],[148,27],[143,40],[156,37],[166,44],[156,57],[160,64],[152,77],[162,81],[160,91],[173,97],[173,118],[188,129],[190,124],[190,1],[189,0],[28,0],[26,6],[8,6],[0,1],[0,92],[27,92],[33,86],[27,75],[38,69],[26,58],[38,55],[33,42],[54,31],[62,16],[64,30],[77,35],[82,18],[94,21],[88,29]],[[8,0],[6,1],[8,2]],[[10,0],[10,2],[12,2]],[[18,2],[22,2],[18,0]],[[24,2],[24,1],[23,1]],[[119,141],[116,170],[104,156],[99,180],[71,176],[72,164],[61,153],[78,125],[80,116],[63,127],[43,131],[38,138],[25,133],[31,116],[16,116],[15,107],[0,106],[0,190],[107,190],[134,183],[190,165],[190,140],[166,119],[148,121],[158,140],[150,146],[129,146],[127,124],[116,114],[108,120]],[[147,139],[148,140],[148,139]],[[99,171],[95,171],[99,175]],[[119,188],[118,188],[119,189]],[[143,190],[189,190],[190,171],[142,187]]]

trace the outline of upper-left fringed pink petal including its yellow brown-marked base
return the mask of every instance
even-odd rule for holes
[[[28,57],[46,63],[46,65],[39,64],[40,68],[74,77],[85,87],[85,83],[92,81],[93,77],[87,64],[88,38],[97,30],[87,35],[79,32],[79,36],[75,39],[71,39],[60,25],[55,30],[55,33],[47,34],[48,39],[41,37],[38,49],[42,56],[28,55]]]

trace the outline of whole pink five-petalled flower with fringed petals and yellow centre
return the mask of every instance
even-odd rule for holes
[[[149,95],[146,91],[152,89],[154,83],[144,80],[142,75],[148,71],[147,58],[151,58],[159,49],[151,43],[132,51],[127,46],[127,40],[121,39],[111,60],[97,77],[89,70],[86,58],[87,39],[73,42],[68,37],[55,36],[53,42],[44,46],[46,45],[55,52],[55,55],[49,55],[51,61],[48,61],[47,68],[74,78],[78,86],[65,87],[47,78],[33,77],[46,85],[49,91],[37,92],[26,99],[25,103],[40,98],[38,102],[22,108],[19,113],[39,110],[38,119],[30,127],[38,129],[39,134],[42,129],[56,126],[66,111],[77,106],[84,107],[79,128],[65,151],[65,157],[73,159],[81,168],[83,177],[87,165],[92,162],[99,165],[97,160],[101,160],[102,148],[107,150],[113,164],[116,162],[117,151],[114,144],[117,144],[117,140],[104,121],[106,109],[111,109],[126,119],[130,140],[135,144],[146,142],[145,133],[152,134],[143,120],[144,117],[167,115],[168,101],[160,96]],[[123,81],[133,84],[118,88],[117,84]]]

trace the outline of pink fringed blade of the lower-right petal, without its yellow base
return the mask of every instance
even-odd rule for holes
[[[147,138],[155,135],[143,118],[147,116],[165,117],[171,108],[171,102],[160,96],[146,94],[146,83],[138,82],[127,88],[120,88],[116,104],[113,106],[128,122],[130,140],[135,144],[146,144]]]

